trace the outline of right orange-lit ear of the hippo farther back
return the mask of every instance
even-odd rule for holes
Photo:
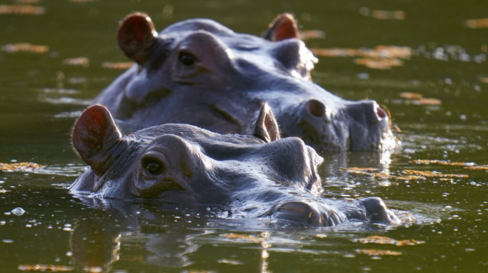
[[[298,38],[298,27],[296,26],[293,15],[289,13],[278,15],[268,26],[268,29],[264,33],[264,38],[273,42]]]

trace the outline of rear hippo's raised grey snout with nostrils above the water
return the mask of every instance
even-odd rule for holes
[[[376,150],[390,132],[388,114],[374,100],[339,103],[311,98],[284,114],[279,123],[284,132],[302,137],[319,152]]]

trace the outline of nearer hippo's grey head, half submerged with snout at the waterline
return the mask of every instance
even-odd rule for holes
[[[322,157],[297,137],[280,139],[263,104],[252,135],[166,123],[122,137],[110,112],[86,109],[73,146],[90,168],[70,191],[93,198],[208,205],[231,217],[270,217],[312,226],[344,221],[399,224],[381,198],[321,198]]]

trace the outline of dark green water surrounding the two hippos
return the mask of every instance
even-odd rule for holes
[[[487,18],[487,1],[41,0],[22,3],[31,5],[20,7],[23,15],[11,6],[19,3],[0,3],[0,162],[46,168],[0,172],[1,272],[488,271],[487,171],[412,162],[488,164],[488,23],[467,21]],[[151,15],[157,29],[209,17],[259,35],[275,15],[291,12],[301,30],[323,31],[325,38],[307,45],[342,51],[319,56],[314,81],[344,98],[386,105],[403,143],[396,154],[324,155],[324,195],[381,196],[418,223],[300,228],[184,208],[169,213],[144,204],[93,204],[68,194],[66,186],[84,170],[70,148],[70,128],[123,71],[105,67],[126,61],[115,31],[135,10]],[[20,42],[48,49],[11,52]],[[395,48],[383,47],[380,65],[396,66],[378,69],[378,59],[365,52],[382,45],[401,47],[406,56],[386,58]],[[350,56],[337,54],[344,49],[353,49]],[[406,98],[406,92],[434,100]],[[379,174],[344,170],[352,167]],[[402,180],[405,170],[452,178]],[[372,235],[425,243],[356,242]],[[371,250],[384,255],[364,253]]]

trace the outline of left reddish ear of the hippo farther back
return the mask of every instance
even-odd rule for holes
[[[144,13],[127,15],[119,26],[119,47],[129,59],[142,65],[148,59],[148,49],[153,45],[158,32],[151,18]]]

